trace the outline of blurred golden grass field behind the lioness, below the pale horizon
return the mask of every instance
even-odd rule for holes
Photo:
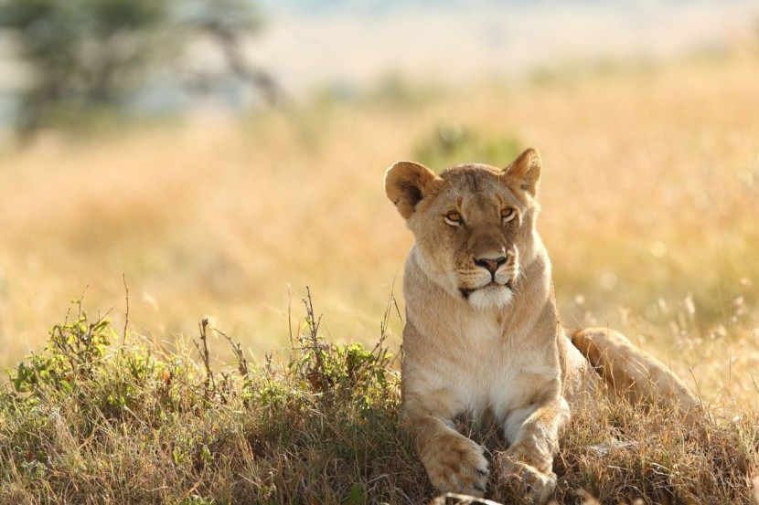
[[[618,328],[708,402],[759,406],[757,82],[759,55],[736,50],[6,150],[0,364],[45,342],[85,286],[123,321],[123,278],[131,330],[156,340],[209,314],[261,357],[310,286],[334,340],[374,342],[412,243],[384,170],[457,121],[540,149],[567,325]]]

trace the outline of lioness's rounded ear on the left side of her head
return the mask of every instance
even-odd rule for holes
[[[398,162],[385,174],[385,193],[404,219],[412,216],[416,205],[431,195],[440,178],[429,168],[413,162]]]

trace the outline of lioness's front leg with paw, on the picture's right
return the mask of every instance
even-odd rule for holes
[[[511,413],[504,426],[511,445],[494,458],[498,479],[532,503],[548,501],[556,489],[559,430],[568,419],[569,405],[561,395]]]

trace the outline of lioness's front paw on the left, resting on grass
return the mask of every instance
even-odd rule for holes
[[[487,469],[485,447],[459,434],[446,434],[434,439],[434,447],[422,454],[435,489],[472,496],[485,494]]]

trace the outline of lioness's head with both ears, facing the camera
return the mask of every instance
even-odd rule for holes
[[[385,191],[416,240],[424,273],[481,309],[503,307],[535,256],[540,154],[528,149],[505,169],[463,164],[440,175],[395,163]]]

